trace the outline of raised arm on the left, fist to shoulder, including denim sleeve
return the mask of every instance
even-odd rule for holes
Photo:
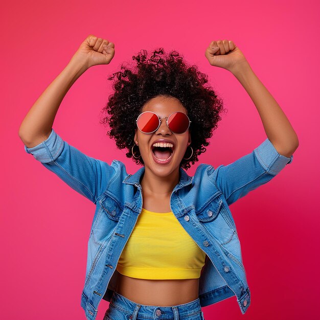
[[[108,43],[108,48],[104,49]],[[42,165],[94,203],[107,186],[114,169],[63,141],[52,126],[73,83],[90,66],[108,64],[114,54],[112,42],[89,35],[64,70],[37,99],[19,128],[26,152],[32,153]]]

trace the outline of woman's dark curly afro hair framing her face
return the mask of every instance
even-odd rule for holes
[[[154,97],[179,99],[191,120],[189,130],[193,154],[190,159],[182,159],[180,163],[180,167],[189,169],[190,163],[197,162],[198,155],[205,152],[205,146],[210,144],[209,139],[221,120],[220,113],[226,111],[222,99],[207,84],[208,76],[198,71],[196,65],[188,66],[177,51],[166,55],[164,49],[159,48],[147,59],[147,51],[141,50],[137,56],[132,56],[132,60],[136,60],[135,68],[122,63],[123,72],[113,73],[107,78],[112,80],[117,77],[112,84],[115,92],[109,96],[101,111],[107,115],[100,123],[109,125],[107,134],[115,139],[118,149],[126,148],[127,157],[131,157],[138,165],[144,165],[142,157],[134,158],[131,152],[135,120],[144,104]],[[189,152],[185,157],[189,157]]]

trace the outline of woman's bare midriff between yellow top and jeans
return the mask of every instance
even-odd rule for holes
[[[119,273],[116,291],[134,303],[170,307],[198,299],[199,279],[148,280]]]

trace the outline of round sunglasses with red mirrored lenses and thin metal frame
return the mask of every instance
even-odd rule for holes
[[[161,125],[161,118],[166,118],[167,126],[173,133],[184,133],[188,130],[191,121],[184,112],[173,112],[169,117],[159,117],[152,111],[140,113],[136,125],[143,133],[152,133]]]

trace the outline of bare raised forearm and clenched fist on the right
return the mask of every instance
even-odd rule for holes
[[[212,41],[205,56],[211,65],[225,68],[239,80],[259,112],[268,139],[280,154],[290,157],[299,146],[298,136],[285,113],[255,75],[240,49],[233,41]]]

